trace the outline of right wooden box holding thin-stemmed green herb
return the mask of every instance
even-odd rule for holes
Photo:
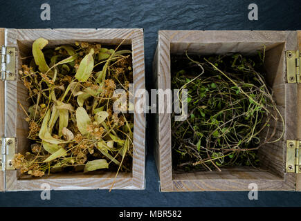
[[[288,146],[286,141],[301,139],[301,86],[291,83],[295,81],[294,76],[293,78],[286,76],[291,75],[291,71],[298,70],[293,67],[289,73],[286,72],[286,56],[288,56],[286,51],[298,50],[298,45],[301,49],[301,31],[160,30],[158,32],[153,73],[156,88],[163,90],[171,87],[171,54],[183,54],[187,50],[197,52],[199,55],[221,55],[227,52],[248,55],[266,46],[266,81],[273,88],[277,106],[285,118],[283,139],[259,149],[261,169],[235,167],[221,169],[221,172],[180,173],[172,170],[171,115],[157,114],[154,155],[161,191],[250,191],[248,188],[250,183],[257,184],[260,191],[301,190],[301,175],[287,172],[289,162],[292,160],[293,164],[296,161],[297,165],[296,167],[291,165],[292,172],[300,165],[297,162],[299,157],[294,158],[295,152],[298,153],[299,142],[296,141],[295,146],[291,144],[292,148],[286,150]],[[293,62],[295,61],[297,60],[293,59]],[[159,101],[158,108],[162,105],[166,104]],[[286,156],[286,151],[292,151],[293,155]]]

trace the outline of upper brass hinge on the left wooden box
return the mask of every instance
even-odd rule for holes
[[[14,81],[16,70],[16,48],[1,48],[1,80]]]

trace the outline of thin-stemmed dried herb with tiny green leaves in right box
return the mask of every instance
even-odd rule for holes
[[[188,90],[188,118],[172,116],[174,169],[258,166],[258,149],[284,134],[265,76],[264,51],[252,57],[172,56],[172,88],[180,89],[179,97]]]

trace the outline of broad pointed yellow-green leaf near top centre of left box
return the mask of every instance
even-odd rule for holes
[[[89,54],[84,56],[82,61],[80,61],[80,66],[75,75],[78,81],[85,82],[90,77],[94,66],[93,54],[94,50],[91,48]]]

